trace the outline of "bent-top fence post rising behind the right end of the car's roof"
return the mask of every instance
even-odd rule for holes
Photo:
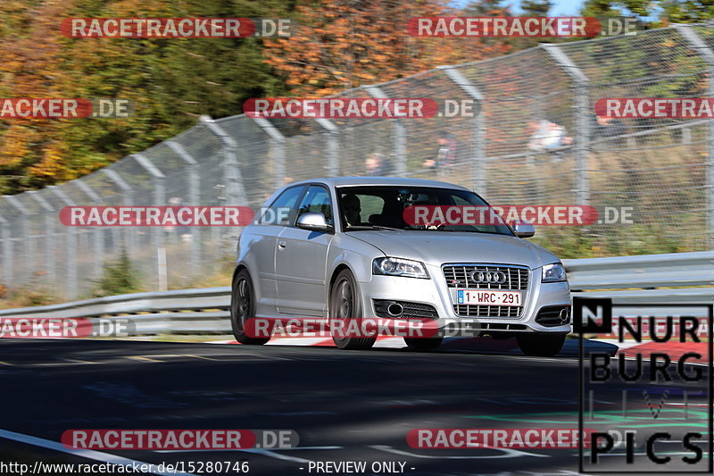
[[[456,66],[439,66],[446,76],[477,104],[477,113],[471,118],[471,186],[482,196],[486,190],[486,123],[484,121],[484,95],[469,82]]]

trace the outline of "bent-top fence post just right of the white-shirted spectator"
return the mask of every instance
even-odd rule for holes
[[[590,205],[590,181],[587,178],[587,155],[590,153],[590,129],[593,114],[588,99],[589,80],[560,46],[541,44],[547,54],[575,83],[575,194],[577,205]]]

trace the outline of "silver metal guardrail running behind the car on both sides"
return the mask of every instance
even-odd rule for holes
[[[643,309],[648,304],[714,302],[714,252],[587,258],[563,263],[569,272],[570,287],[581,296],[611,297],[615,303],[642,304]],[[602,290],[623,288],[636,289]],[[600,291],[594,291],[597,289]],[[229,305],[229,287],[179,289],[6,309],[0,310],[0,317],[122,315],[134,323],[137,335],[226,334],[230,333]]]

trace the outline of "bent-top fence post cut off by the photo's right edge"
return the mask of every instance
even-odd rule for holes
[[[707,95],[714,98],[714,51],[691,25],[675,28],[692,49],[707,63]],[[714,121],[707,121],[707,246],[714,249]]]

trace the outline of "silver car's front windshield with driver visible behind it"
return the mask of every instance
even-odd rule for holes
[[[502,221],[485,224],[416,224],[405,221],[410,206],[488,207],[469,190],[436,187],[357,186],[337,188],[343,230],[438,230],[513,236]],[[408,214],[408,213],[406,213]]]

